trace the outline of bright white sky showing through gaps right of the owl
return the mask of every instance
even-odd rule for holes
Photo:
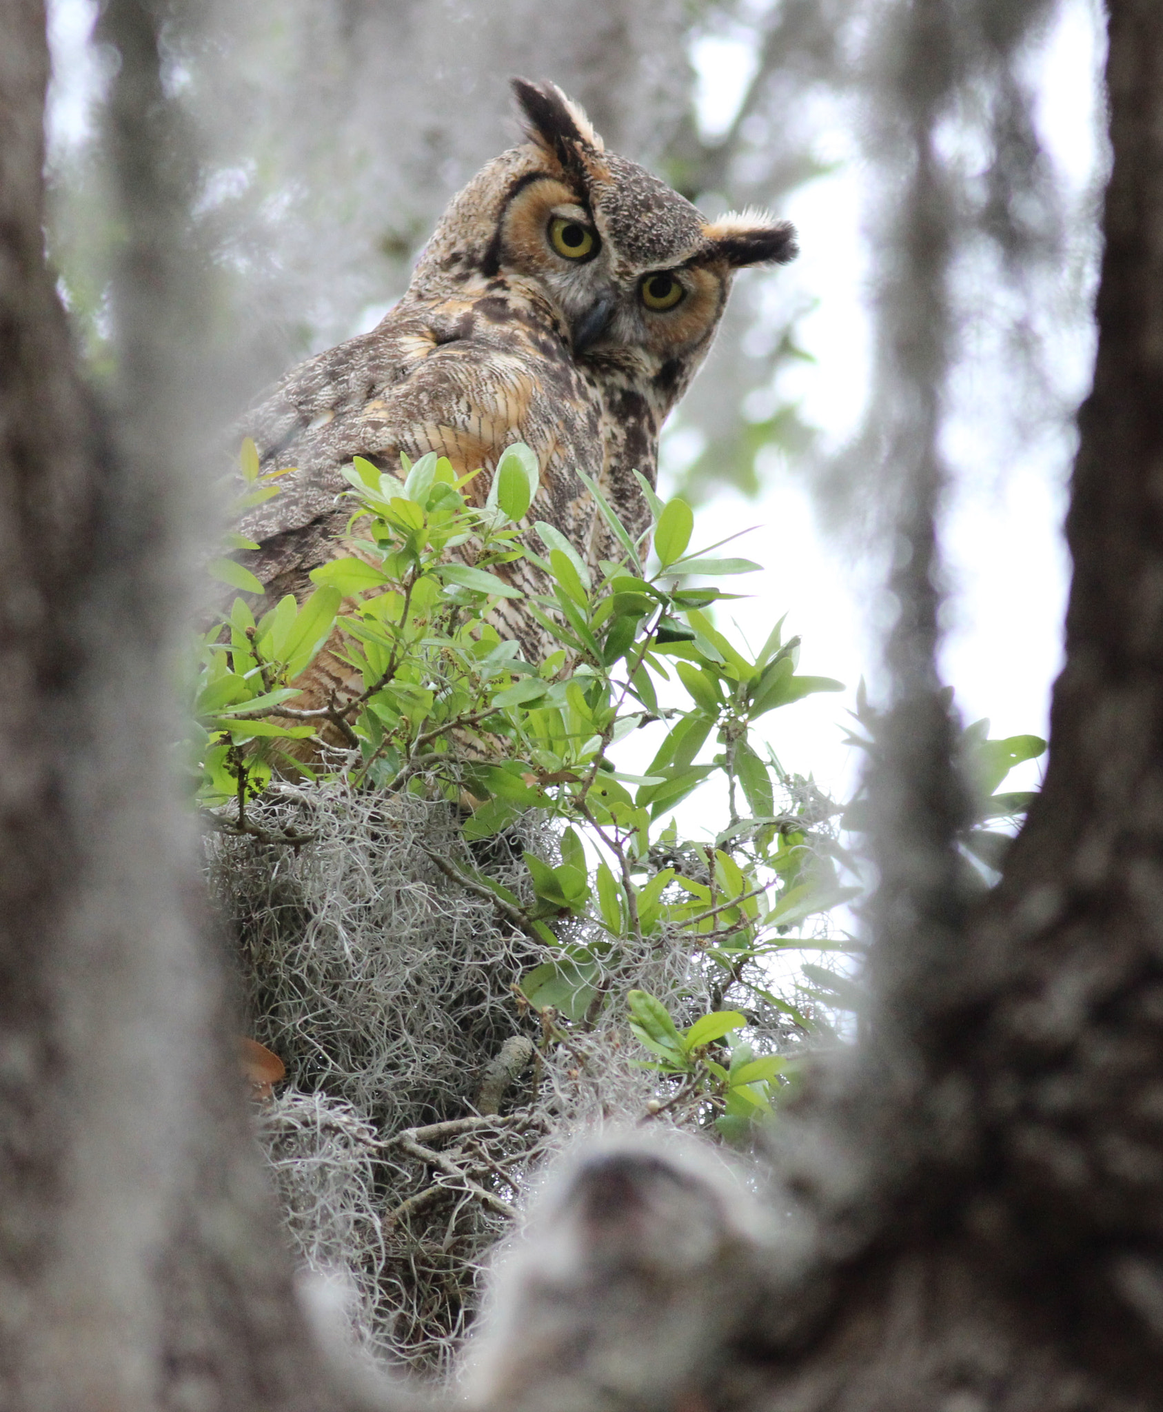
[[[1040,95],[1040,136],[1075,196],[1091,186],[1101,160],[1095,136],[1099,59],[1092,6],[1067,0],[1032,56],[1032,73]],[[696,64],[700,116],[707,130],[723,131],[754,59],[744,42],[706,40],[696,48]],[[838,448],[860,426],[868,390],[868,247],[861,232],[862,169],[851,138],[837,123],[821,133],[820,147],[821,155],[840,158],[843,165],[795,192],[779,212],[799,227],[802,254],[778,278],[795,281],[814,304],[797,336],[816,360],[789,370],[782,388],[799,398],[824,442]],[[1087,321],[1061,339],[1054,369],[1060,388],[1075,400],[1088,387],[1090,356]],[[988,363],[967,371],[971,395],[988,407],[991,381],[1004,373]],[[988,716],[994,736],[1044,736],[1050,686],[1061,664],[1068,586],[1061,520],[1073,439],[1060,438],[999,465],[988,432],[985,419],[968,414],[950,436],[958,489],[944,542],[956,597],[943,669],[967,722]],[[696,539],[710,542],[749,524],[765,528],[742,539],[738,552],[768,568],[734,580],[754,599],[735,604],[731,616],[749,628],[758,647],[765,626],[789,610],[788,633],[803,637],[800,671],[838,678],[850,688],[843,696],[816,696],[773,713],[766,717],[768,736],[785,768],[814,772],[817,782],[844,798],[858,768],[841,741],[851,689],[862,675],[876,678],[868,586],[854,573],[850,554],[820,531],[809,486],[778,453],[768,465],[761,501],[735,493],[717,498],[699,511]],[[725,618],[725,609],[721,613]],[[1029,775],[1036,778],[1037,768],[1028,767]],[[1018,778],[1011,777],[1011,786]]]

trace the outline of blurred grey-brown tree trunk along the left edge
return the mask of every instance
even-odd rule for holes
[[[169,758],[193,537],[165,429],[195,393],[167,352],[155,17],[104,24],[120,417],[44,261],[44,7],[0,20],[0,1405],[315,1412],[347,1404],[292,1298]]]

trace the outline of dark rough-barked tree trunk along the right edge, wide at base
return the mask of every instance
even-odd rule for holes
[[[797,1323],[807,1351],[773,1375],[778,1406],[1146,1408],[1163,1388],[1156,0],[1111,4],[1107,76],[1114,171],[1049,772],[956,949],[912,977],[908,1012],[881,977],[891,1024],[802,1106],[788,1176],[814,1210],[826,1312]]]

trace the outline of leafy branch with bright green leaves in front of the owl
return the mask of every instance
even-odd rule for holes
[[[255,467],[247,445],[248,494],[277,494],[255,481]],[[504,453],[483,505],[466,494],[474,476],[457,476],[435,455],[402,457],[401,476],[356,457],[344,476],[351,555],[315,569],[302,602],[288,594],[257,618],[237,597],[200,640],[186,743],[200,808],[222,832],[301,847],[313,834],[253,816],[254,801],[285,788],[279,774],[447,801],[463,851],[428,856],[539,953],[515,994],[541,1015],[543,1045],[580,1053],[579,1036],[624,998],[624,959],[677,952],[704,977],[716,1010],[679,1024],[645,993],[625,994],[631,1032],[659,1083],[679,1083],[648,1115],[690,1107],[744,1141],[773,1111],[790,1072],[786,1056],[755,1053],[773,1031],[754,1017],[786,1018],[805,1032],[816,1024],[812,1005],[858,1007],[858,981],[819,966],[802,970],[806,1001],[775,994],[769,976],[771,957],[789,949],[860,950],[821,933],[830,909],[860,890],[830,822],[844,806],[788,775],[761,738],[771,713],[841,683],[797,672],[800,642],[783,640],[782,618],[755,654],[720,631],[714,606],[733,594],[697,580],[758,565],[717,555],[721,545],[692,551],[690,507],[663,504],[641,476],[651,527],[638,539],[583,476],[618,555],[596,561],[553,525],[531,521],[539,467],[526,446]],[[219,565],[222,576],[261,592],[240,563],[224,562],[233,568]],[[519,575],[514,565],[524,565]],[[539,661],[504,635],[505,600],[541,628]],[[346,668],[350,686],[316,706],[303,686],[322,651]],[[857,717],[860,743],[875,750],[875,713],[862,693]],[[335,755],[323,727],[343,743]],[[988,786],[965,840],[974,856],[991,846],[981,822],[1028,803],[996,788],[1040,746],[989,741],[981,723],[965,733],[967,768]],[[675,810],[714,779],[725,784],[728,818],[710,842],[685,837]],[[847,806],[847,827],[860,827],[861,809],[860,798]],[[526,851],[518,895],[477,867],[473,850],[528,810],[555,822],[559,858]],[[802,931],[812,919],[814,931]],[[723,1008],[728,997],[747,1010]],[[459,1159],[416,1134],[408,1142],[411,1155],[484,1200]],[[487,1204],[500,1210],[498,1200]]]

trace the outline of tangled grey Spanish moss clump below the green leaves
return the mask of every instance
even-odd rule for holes
[[[326,782],[277,784],[250,818],[312,839],[206,840],[247,1034],[287,1065],[258,1134],[292,1248],[337,1282],[358,1347],[447,1371],[481,1262],[549,1152],[607,1124],[706,1120],[697,1094],[655,1117],[673,1093],[644,1066],[622,1003],[638,988],[676,1017],[704,1014],[717,1003],[706,962],[689,936],[624,940],[597,977],[611,1000],[566,1032],[514,990],[560,947],[440,866],[486,873],[529,905],[524,851],[559,861],[542,816],[467,844],[447,803]],[[586,939],[577,922],[558,932]],[[776,1010],[754,1019],[786,1039]]]

